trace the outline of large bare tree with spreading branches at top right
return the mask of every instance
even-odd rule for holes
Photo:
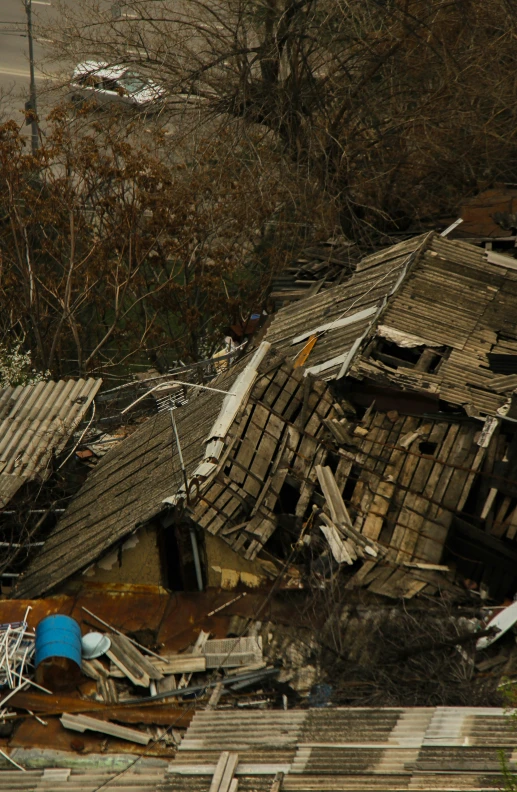
[[[62,0],[53,57],[134,65],[267,130],[360,239],[515,179],[514,0]],[[192,112],[195,108],[196,112]]]

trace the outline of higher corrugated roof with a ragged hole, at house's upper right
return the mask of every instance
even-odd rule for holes
[[[427,391],[484,416],[513,389],[488,355],[517,354],[516,316],[517,261],[431,233],[363,259],[347,284],[280,311],[266,338],[295,358],[317,335],[305,365],[325,379],[348,373]],[[390,332],[409,336],[408,346],[442,347],[439,367],[374,359],[371,340]]]

